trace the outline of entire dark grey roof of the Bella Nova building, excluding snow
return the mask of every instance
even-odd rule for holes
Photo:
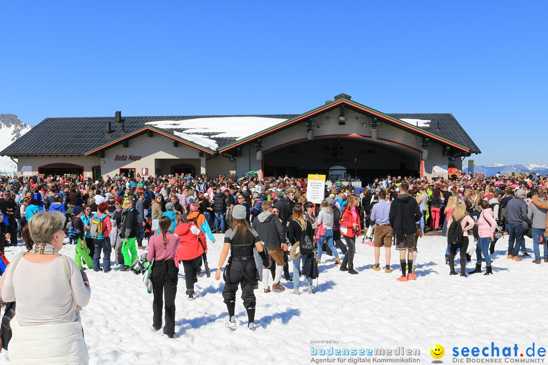
[[[291,119],[300,114],[254,114],[254,115],[159,115],[150,117],[122,117],[124,130],[121,123],[115,122],[115,117],[68,117],[46,118],[33,127],[24,136],[5,148],[0,155],[82,155],[99,146],[103,146],[113,140],[117,140],[127,134],[142,129],[145,123],[162,120],[187,120],[196,118],[222,118],[222,117],[263,117],[277,119]],[[466,131],[452,114],[388,114],[398,119],[424,119],[430,120],[430,126],[422,126],[433,134],[447,138],[450,141],[469,147],[471,153],[481,153],[481,150],[472,141]],[[105,134],[105,122],[110,121],[111,133]],[[438,130],[439,122],[439,130]],[[156,129],[161,129],[157,128]],[[161,129],[169,135],[174,131],[186,132],[184,129]],[[222,132],[222,131],[219,131]],[[218,133],[219,133],[218,132]],[[214,133],[199,132],[199,135],[207,136],[214,140],[219,148],[236,141],[233,137],[212,137]],[[178,137],[180,138],[180,137]]]

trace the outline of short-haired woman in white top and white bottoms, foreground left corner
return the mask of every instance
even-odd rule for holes
[[[91,289],[74,260],[58,252],[64,224],[59,212],[32,216],[28,229],[34,246],[6,268],[2,300],[17,302],[8,346],[12,364],[89,361],[77,307],[88,304]]]

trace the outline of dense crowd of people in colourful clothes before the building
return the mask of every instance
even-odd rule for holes
[[[22,317],[19,326],[12,326],[14,345],[10,346],[10,350],[19,349],[14,350],[15,356],[25,356],[20,346],[27,338],[20,336],[28,335],[26,326],[45,325],[55,318],[58,325],[72,323],[65,331],[74,332],[79,323],[75,308],[86,305],[90,296],[89,280],[83,273],[86,268],[109,273],[113,262],[120,271],[130,271],[144,250],[144,260],[151,263],[153,328],[162,328],[164,310],[163,332],[173,338],[179,266],[185,274],[186,296],[193,299],[194,285],[207,264],[207,240],[214,243],[215,233],[224,234],[215,279],[220,280],[222,274],[225,281],[222,297],[229,312],[225,324],[237,326],[235,303],[240,288],[250,330],[254,329],[254,289],[260,282],[264,293],[284,291],[283,275],[293,281],[293,293],[300,294],[304,277],[306,292],[313,294],[312,279],[318,275],[318,265],[326,262],[324,254],[333,257],[339,270],[357,275],[354,257],[360,236],[361,242],[372,241],[374,264],[370,269],[374,271],[381,270],[384,247],[384,272],[392,273],[391,248],[396,247],[399,282],[416,279],[418,240],[428,231],[441,231],[446,237],[450,275],[458,275],[455,257],[459,252],[460,276],[481,273],[483,262],[484,274],[493,274],[495,244],[505,234],[509,236],[508,259],[521,262],[529,255],[523,238],[529,235],[533,263],[541,263],[540,246],[548,262],[548,176],[534,173],[449,179],[386,176],[359,187],[352,182],[328,184],[320,204],[307,200],[306,179],[288,176],[116,175],[93,182],[77,175],[41,175],[2,177],[1,182],[0,252],[4,253],[5,246],[17,245],[20,237],[28,250],[22,260],[22,255],[9,258],[12,264],[0,280],[3,302],[13,302],[15,292],[20,293],[17,308],[21,309],[16,314]],[[74,260],[59,254],[64,241],[75,245]],[[466,262],[474,253],[476,268],[466,273]],[[18,262],[20,267],[14,271]],[[35,266],[27,262],[47,263],[59,271],[62,283],[48,285],[66,292],[59,298],[64,301],[62,306],[49,302],[49,312],[33,313],[30,304],[47,297],[48,288],[38,288],[36,281],[14,281],[15,277],[41,274],[32,272]],[[82,275],[76,275],[78,271]],[[83,338],[73,341],[81,345]],[[87,356],[87,350],[75,348],[78,356]]]

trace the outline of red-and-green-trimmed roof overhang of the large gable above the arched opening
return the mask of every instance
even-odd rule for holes
[[[429,131],[426,131],[424,129],[421,129],[417,126],[414,126],[412,124],[406,123],[403,120],[390,117],[390,115],[384,114],[382,112],[376,111],[375,109],[369,108],[367,106],[361,105],[357,102],[347,100],[347,99],[339,99],[333,102],[330,102],[326,105],[323,105],[321,107],[318,107],[316,109],[312,109],[309,112],[306,112],[304,114],[298,115],[295,118],[288,119],[286,121],[283,121],[282,123],[276,124],[271,126],[270,128],[267,128],[265,130],[262,130],[254,135],[248,136],[243,138],[242,140],[232,142],[230,144],[227,144],[226,146],[219,149],[219,152],[226,152],[227,150],[230,150],[232,148],[235,148],[237,146],[240,146],[242,144],[245,144],[249,141],[253,141],[256,138],[264,137],[266,135],[273,134],[277,131],[289,128],[292,125],[298,124],[308,118],[315,117],[318,114],[322,114],[328,111],[331,111],[337,107],[340,107],[340,105],[345,105],[345,107],[349,107],[355,111],[361,112],[363,114],[368,115],[369,117],[376,117],[379,118],[380,121],[384,121],[385,123],[389,123],[391,125],[394,125],[398,128],[401,128],[403,130],[406,130],[410,133],[413,133],[418,136],[427,137],[430,138],[432,141],[437,141],[440,144],[453,147],[463,153],[470,153],[470,148],[463,146],[462,144],[447,140],[446,138],[440,137],[438,135],[435,135]]]

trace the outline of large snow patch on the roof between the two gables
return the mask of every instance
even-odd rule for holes
[[[287,119],[264,117],[216,117],[186,120],[149,121],[146,124],[162,129],[184,129],[185,134],[218,133],[212,135],[211,137],[232,137],[236,138],[236,140],[241,140],[244,137],[253,135],[278,123],[282,123],[282,121],[285,120]],[[195,143],[202,144],[200,142]],[[208,147],[204,144],[202,144],[202,146]]]

